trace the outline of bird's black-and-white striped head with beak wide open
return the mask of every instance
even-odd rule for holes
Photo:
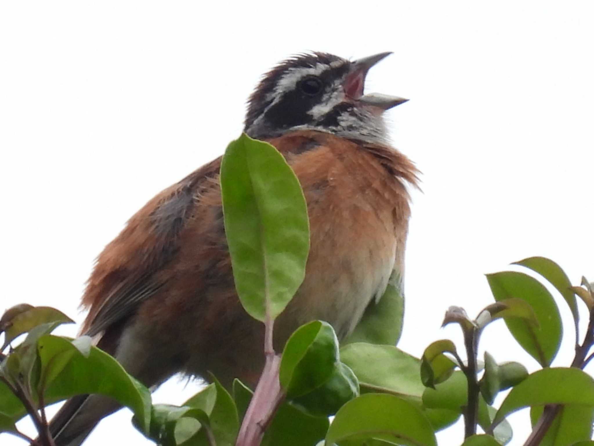
[[[245,132],[252,138],[319,130],[384,142],[383,112],[407,99],[364,94],[365,77],[390,52],[355,61],[326,53],[287,59],[264,75],[248,100]]]

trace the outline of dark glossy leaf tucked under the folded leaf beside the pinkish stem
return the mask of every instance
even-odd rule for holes
[[[312,415],[330,416],[347,401],[358,396],[359,381],[355,373],[342,362],[338,362],[324,384],[308,394],[294,398],[292,403],[304,407]]]

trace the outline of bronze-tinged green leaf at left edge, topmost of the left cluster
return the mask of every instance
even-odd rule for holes
[[[46,323],[56,323],[54,328],[62,323],[74,323],[67,315],[52,307],[33,307],[29,304],[19,304],[8,309],[0,319],[0,333],[4,331],[4,350],[8,344],[19,335],[26,333]]]

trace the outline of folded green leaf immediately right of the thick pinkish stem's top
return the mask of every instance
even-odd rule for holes
[[[339,358],[338,340],[327,322],[300,326],[289,338],[280,362],[280,385],[296,398],[320,387],[334,372]]]

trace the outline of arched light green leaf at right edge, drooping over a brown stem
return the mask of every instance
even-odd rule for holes
[[[594,379],[576,368],[538,370],[511,389],[494,422],[522,407],[544,404],[594,406]]]

